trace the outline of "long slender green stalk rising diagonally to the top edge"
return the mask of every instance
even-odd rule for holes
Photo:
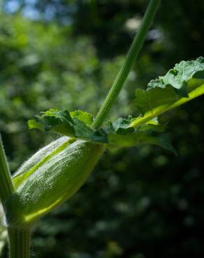
[[[156,14],[156,10],[159,7],[159,3],[161,0],[151,0],[150,5],[148,6],[145,16],[143,18],[143,22],[140,25],[140,29],[136,34],[136,38],[134,38],[129,53],[126,56],[126,60],[124,65],[119,70],[119,73],[115,79],[115,82],[112,84],[112,88],[110,89],[108,95],[106,96],[99,113],[96,115],[96,119],[92,123],[92,128],[99,128],[103,121],[105,120],[110,108],[112,107],[113,103],[117,99],[119,92],[126,81],[126,77],[129,75],[129,71],[133,66],[134,61],[136,60],[138,53],[140,52],[140,48],[142,47],[145,36],[147,35],[148,30],[150,29],[150,25],[154,19],[154,15]]]

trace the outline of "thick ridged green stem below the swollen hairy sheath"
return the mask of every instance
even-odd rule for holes
[[[29,258],[31,230],[8,227],[9,258]]]

